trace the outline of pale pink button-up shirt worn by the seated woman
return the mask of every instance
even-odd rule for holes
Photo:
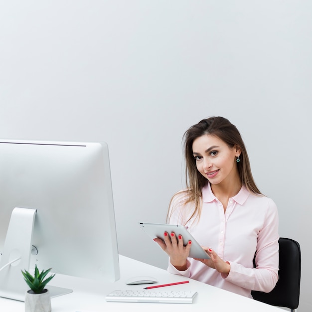
[[[230,273],[223,278],[192,258],[187,260],[187,270],[178,271],[169,263],[168,271],[250,298],[251,290],[270,292],[278,280],[279,267],[279,221],[273,200],[251,194],[243,186],[229,199],[224,213],[209,183],[202,190],[202,198],[199,220],[185,224],[192,206],[183,205],[185,193],[177,193],[171,201],[169,222],[187,226],[200,245],[212,248],[230,263]]]

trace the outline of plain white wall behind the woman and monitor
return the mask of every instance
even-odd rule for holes
[[[106,141],[120,253],[165,268],[137,222],[165,220],[184,131],[229,118],[311,311],[311,29],[309,0],[0,0],[0,137]]]

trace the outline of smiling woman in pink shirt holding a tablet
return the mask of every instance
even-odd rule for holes
[[[210,259],[188,258],[191,242],[164,233],[156,242],[168,271],[250,298],[251,290],[270,292],[278,280],[278,212],[254,182],[239,131],[211,117],[186,131],[184,146],[187,188],[172,197],[167,221],[186,226]]]

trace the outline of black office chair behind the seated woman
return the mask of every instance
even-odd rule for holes
[[[279,280],[270,293],[252,291],[255,300],[271,306],[285,307],[292,312],[299,306],[301,251],[298,242],[290,238],[280,238]]]

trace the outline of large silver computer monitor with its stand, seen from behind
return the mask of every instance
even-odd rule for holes
[[[0,253],[0,297],[24,301],[20,270],[35,264],[119,279],[106,143],[0,140]],[[70,292],[50,284],[51,297]]]

